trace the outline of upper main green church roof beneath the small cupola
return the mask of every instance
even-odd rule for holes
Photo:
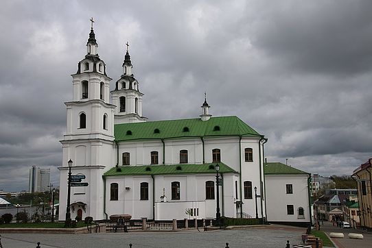
[[[189,131],[186,131],[185,127]],[[159,132],[156,133],[155,130]],[[114,127],[114,134],[117,141],[202,136],[261,136],[237,116],[211,117],[208,121],[181,119],[117,124]]]

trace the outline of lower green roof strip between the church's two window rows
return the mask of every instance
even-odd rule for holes
[[[213,173],[216,171],[214,165],[207,164],[170,164],[170,165],[148,165],[148,166],[119,166],[119,171],[113,167],[105,176],[113,175],[174,175],[174,174],[196,174],[196,173]],[[226,164],[219,162],[220,173],[236,173]]]

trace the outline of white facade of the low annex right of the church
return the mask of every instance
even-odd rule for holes
[[[268,222],[310,223],[308,178],[307,174],[265,175]]]

